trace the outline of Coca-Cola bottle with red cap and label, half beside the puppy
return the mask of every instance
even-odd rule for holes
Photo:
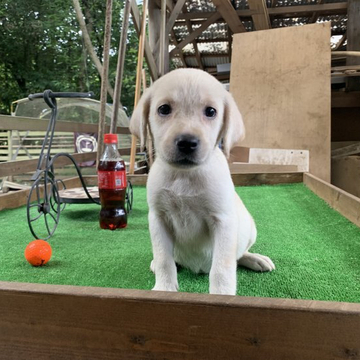
[[[126,167],[117,149],[117,135],[105,134],[104,143],[104,153],[98,165],[100,227],[116,230],[127,225]]]

